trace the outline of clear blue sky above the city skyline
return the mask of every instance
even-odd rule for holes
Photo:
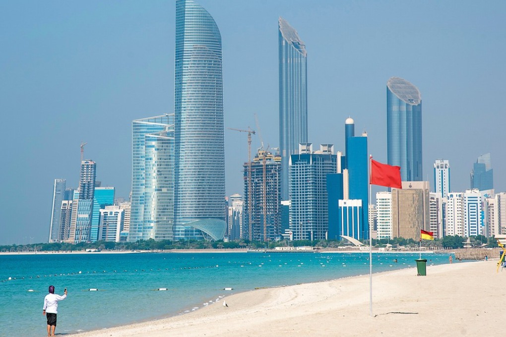
[[[198,2],[198,1],[197,1]],[[423,102],[424,176],[450,160],[451,189],[470,187],[492,155],[506,191],[506,2],[200,0],[223,39],[225,127],[278,146],[279,16],[308,51],[309,141],[344,147],[344,121],[366,129],[386,162],[386,83]],[[131,122],[174,110],[174,1],[0,2],[0,244],[47,241],[53,180],[77,187],[79,145],[97,179],[131,189]],[[258,138],[254,148],[259,147]],[[227,195],[242,194],[246,135],[225,130]]]

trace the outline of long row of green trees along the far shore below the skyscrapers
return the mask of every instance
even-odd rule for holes
[[[442,239],[434,240],[422,240],[421,246],[429,249],[456,249],[463,248],[467,238],[462,236],[445,236]],[[485,237],[483,235],[471,236],[470,242],[472,247],[498,247],[494,237]],[[364,242],[368,244],[368,242]],[[395,237],[393,239],[373,239],[372,244],[374,247],[386,247],[392,245],[394,247],[417,247],[419,242],[411,238],[405,239],[402,237]],[[280,246],[312,246],[322,248],[337,248],[345,246],[346,244],[340,240],[298,240],[288,241],[280,240],[276,242],[260,242],[250,240],[240,240],[232,242],[218,241],[204,241],[204,240],[161,240],[155,241],[139,240],[137,242],[105,242],[97,241],[94,243],[78,243],[78,244],[66,244],[66,243],[51,243],[51,244],[31,244],[31,245],[11,245],[11,246],[0,246],[0,252],[33,252],[33,251],[82,251],[86,249],[98,249],[98,250],[133,250],[133,251],[146,251],[146,250],[178,250],[178,249],[237,249],[237,248],[249,248],[249,249],[265,249],[275,248]]]

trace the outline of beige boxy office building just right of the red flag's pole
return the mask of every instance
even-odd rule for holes
[[[392,237],[420,238],[420,229],[430,231],[428,181],[403,181],[392,188]]]

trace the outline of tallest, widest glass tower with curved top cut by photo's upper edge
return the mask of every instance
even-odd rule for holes
[[[176,2],[174,238],[225,222],[221,35],[191,0]]]

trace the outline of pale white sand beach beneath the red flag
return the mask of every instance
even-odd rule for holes
[[[140,336],[487,336],[502,333],[506,271],[496,261],[455,262],[250,291],[194,312],[78,333]],[[69,335],[71,336],[71,335]]]

